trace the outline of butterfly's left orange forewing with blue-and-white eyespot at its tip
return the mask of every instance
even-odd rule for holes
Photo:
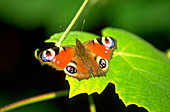
[[[75,54],[75,46],[53,47],[38,56],[42,64],[48,64],[56,70],[63,70]]]

